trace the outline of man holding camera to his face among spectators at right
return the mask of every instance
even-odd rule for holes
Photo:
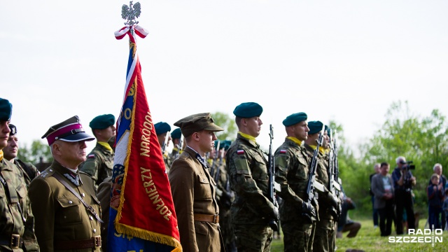
[[[407,230],[415,229],[414,200],[412,199],[412,186],[415,185],[415,177],[412,176],[411,169],[415,169],[412,162],[406,162],[405,157],[398,157],[397,167],[392,172],[393,188],[395,190],[395,216],[397,218],[397,235],[403,234],[403,208],[406,209]]]

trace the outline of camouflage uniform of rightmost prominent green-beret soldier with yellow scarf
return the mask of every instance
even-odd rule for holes
[[[313,158],[314,148],[304,144],[307,154]],[[311,161],[310,161],[311,162]],[[328,179],[328,155],[318,152],[318,165],[316,169],[316,179],[325,186],[325,192],[318,191],[318,215],[319,221],[316,223],[316,234],[314,235],[314,251],[335,251],[335,221],[330,214],[332,208],[329,199],[329,179]]]

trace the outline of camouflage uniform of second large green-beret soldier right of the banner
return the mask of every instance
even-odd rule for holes
[[[304,148],[286,138],[275,151],[275,181],[278,192],[280,221],[285,251],[312,251],[316,221],[302,217],[302,202],[306,198],[309,158]]]

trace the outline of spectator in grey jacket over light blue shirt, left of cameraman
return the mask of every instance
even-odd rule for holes
[[[380,173],[372,178],[372,192],[375,197],[374,208],[379,212],[381,236],[391,235],[393,220],[393,181],[389,175],[390,165],[381,163]]]

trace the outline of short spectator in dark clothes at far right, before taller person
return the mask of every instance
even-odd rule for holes
[[[440,176],[433,174],[431,176],[432,184],[428,186],[428,222],[429,228],[442,228],[440,215],[442,214],[443,186],[440,182]]]

